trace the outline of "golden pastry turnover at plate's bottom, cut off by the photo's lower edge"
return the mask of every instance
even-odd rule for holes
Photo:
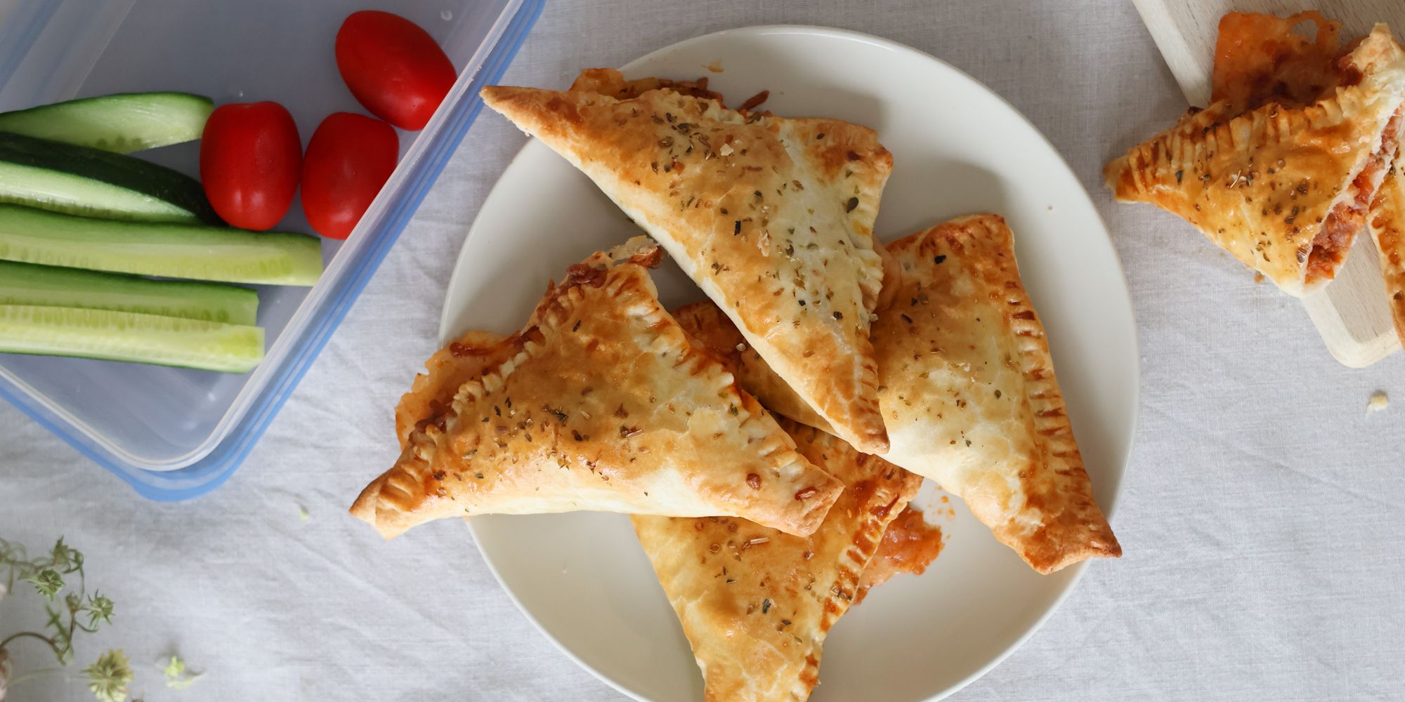
[[[884,529],[922,479],[788,420],[781,425],[846,489],[809,536],[746,519],[634,517],[634,529],[683,633],[710,702],[804,701],[821,646],[858,592]]]

